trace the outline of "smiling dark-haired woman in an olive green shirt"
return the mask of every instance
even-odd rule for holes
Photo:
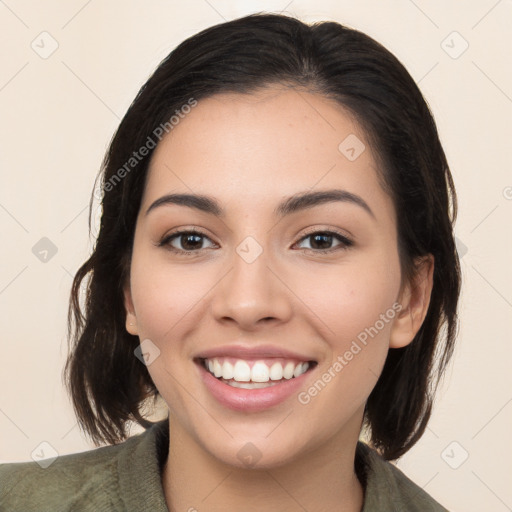
[[[2,466],[7,510],[446,510],[388,462],[426,428],[460,291],[452,177],[392,54],[333,22],[206,29],[101,185],[66,378],[112,446]]]

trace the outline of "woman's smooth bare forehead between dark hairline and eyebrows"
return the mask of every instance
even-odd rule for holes
[[[333,100],[283,87],[217,94],[182,115],[158,144],[143,204],[174,191],[262,204],[336,187],[389,208],[376,165],[361,127]]]

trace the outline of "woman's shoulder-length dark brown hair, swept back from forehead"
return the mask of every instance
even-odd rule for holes
[[[365,410],[372,444],[386,459],[405,453],[426,428],[452,355],[460,292],[455,189],[428,105],[403,65],[369,36],[335,22],[253,14],[203,30],[172,51],[140,89],[105,155],[101,225],[73,281],[64,373],[79,424],[97,444],[125,439],[128,421],[149,426],[141,407],[158,396],[134,356],[140,341],[125,330],[123,286],[154,148],[137,162],[133,152],[153,146],[158,127],[169,128],[191,98],[250,94],[271,84],[322,94],[355,116],[395,205],[403,278],[414,275],[416,258],[435,258],[425,321],[411,344],[389,351]]]

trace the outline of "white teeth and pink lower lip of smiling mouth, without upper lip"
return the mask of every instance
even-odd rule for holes
[[[293,358],[200,357],[194,362],[207,389],[230,409],[261,411],[297,392],[318,365]]]

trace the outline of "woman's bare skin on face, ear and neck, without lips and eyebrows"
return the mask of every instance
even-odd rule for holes
[[[338,150],[350,134],[366,146],[354,161]],[[201,100],[157,146],[125,306],[127,330],[160,350],[148,369],[170,410],[162,479],[170,511],[361,510],[354,457],[364,405],[388,350],[410,343],[420,328],[433,270],[425,258],[414,280],[402,282],[395,209],[376,169],[345,109],[284,87]],[[357,194],[374,216],[350,202],[274,216],[284,198],[331,188]],[[183,205],[146,214],[168,193],[213,196],[225,216]],[[169,249],[190,247],[186,236],[158,246],[178,228],[205,235],[189,255]],[[305,238],[332,230],[353,245]],[[250,264],[236,252],[248,236],[263,249]],[[193,362],[226,344],[289,348],[318,362],[307,390],[395,303],[399,314],[307,404],[294,394],[262,412],[230,410]],[[250,468],[237,457],[248,442],[260,456]]]

